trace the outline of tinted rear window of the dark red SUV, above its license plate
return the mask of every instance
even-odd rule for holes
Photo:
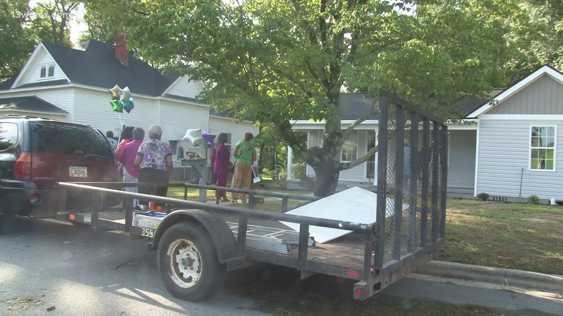
[[[32,152],[84,154],[113,158],[106,139],[95,129],[53,122],[30,122]]]

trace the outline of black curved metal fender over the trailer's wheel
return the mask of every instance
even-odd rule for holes
[[[217,259],[220,263],[235,258],[236,240],[231,228],[219,216],[203,210],[177,210],[166,215],[154,233],[153,241],[149,244],[149,250],[157,250],[160,237],[166,229],[183,221],[196,222],[205,228],[215,244]]]

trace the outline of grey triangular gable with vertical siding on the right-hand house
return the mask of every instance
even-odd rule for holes
[[[563,114],[563,84],[543,74],[484,114]]]

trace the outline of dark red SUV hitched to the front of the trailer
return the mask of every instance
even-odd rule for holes
[[[54,217],[56,182],[115,182],[114,153],[97,129],[64,121],[0,118],[0,215]],[[81,209],[91,195],[68,195],[66,207]],[[106,204],[107,205],[107,204]]]

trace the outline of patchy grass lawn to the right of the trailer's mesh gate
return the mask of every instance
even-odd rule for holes
[[[443,260],[561,274],[563,207],[448,198]]]

